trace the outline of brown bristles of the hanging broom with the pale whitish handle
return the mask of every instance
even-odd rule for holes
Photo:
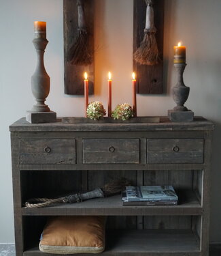
[[[134,53],[134,59],[141,65],[153,66],[158,64],[159,53],[155,33],[145,32],[143,41]]]

